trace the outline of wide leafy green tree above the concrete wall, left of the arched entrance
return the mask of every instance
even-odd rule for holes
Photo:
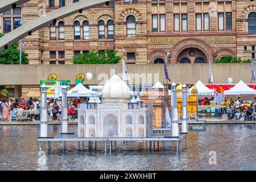
[[[74,64],[117,64],[121,57],[116,55],[117,51],[104,51],[100,53],[99,51],[89,51],[86,54],[80,54],[74,57]]]

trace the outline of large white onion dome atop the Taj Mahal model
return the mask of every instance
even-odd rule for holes
[[[103,102],[129,102],[129,86],[117,75],[111,77],[102,89]]]

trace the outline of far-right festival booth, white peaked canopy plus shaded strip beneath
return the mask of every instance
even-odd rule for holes
[[[247,86],[242,80],[238,82],[230,90],[224,91],[224,98],[237,100],[237,97],[241,97],[242,100],[252,101],[256,95],[256,90]]]

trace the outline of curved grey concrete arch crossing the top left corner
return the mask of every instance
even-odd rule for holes
[[[79,13],[82,14],[82,10],[87,10],[96,6],[104,5],[104,3],[108,1],[109,0],[82,0],[73,3],[72,5],[64,6],[61,7],[60,9],[50,11],[46,15],[33,19],[28,23],[24,23],[19,28],[16,28],[9,34],[6,34],[5,36],[2,36],[2,38],[0,38],[0,51],[2,51],[5,48],[8,48],[8,46],[11,46],[11,44],[18,42],[18,40],[24,38],[27,35],[31,35],[32,32],[35,32],[40,28],[47,26],[48,24],[54,23],[57,20],[73,15],[77,13],[77,11],[79,11]],[[113,2],[115,1],[119,0],[113,0]],[[5,5],[7,5],[7,3],[5,3]]]

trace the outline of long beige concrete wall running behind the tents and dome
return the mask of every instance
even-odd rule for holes
[[[256,66],[256,65],[255,65]],[[57,80],[71,80],[75,84],[79,73],[92,73],[93,79],[84,84],[104,84],[113,75],[114,65],[1,65],[0,85],[39,85],[40,80],[47,80],[51,73],[56,73]],[[209,64],[168,64],[171,81],[195,84],[198,80],[208,83]],[[226,83],[226,78],[233,77],[234,83],[240,80],[250,83],[250,64],[212,64],[214,84]],[[163,64],[127,64],[131,77],[129,84],[154,84],[166,81]],[[122,64],[117,65],[117,73],[122,76]]]

